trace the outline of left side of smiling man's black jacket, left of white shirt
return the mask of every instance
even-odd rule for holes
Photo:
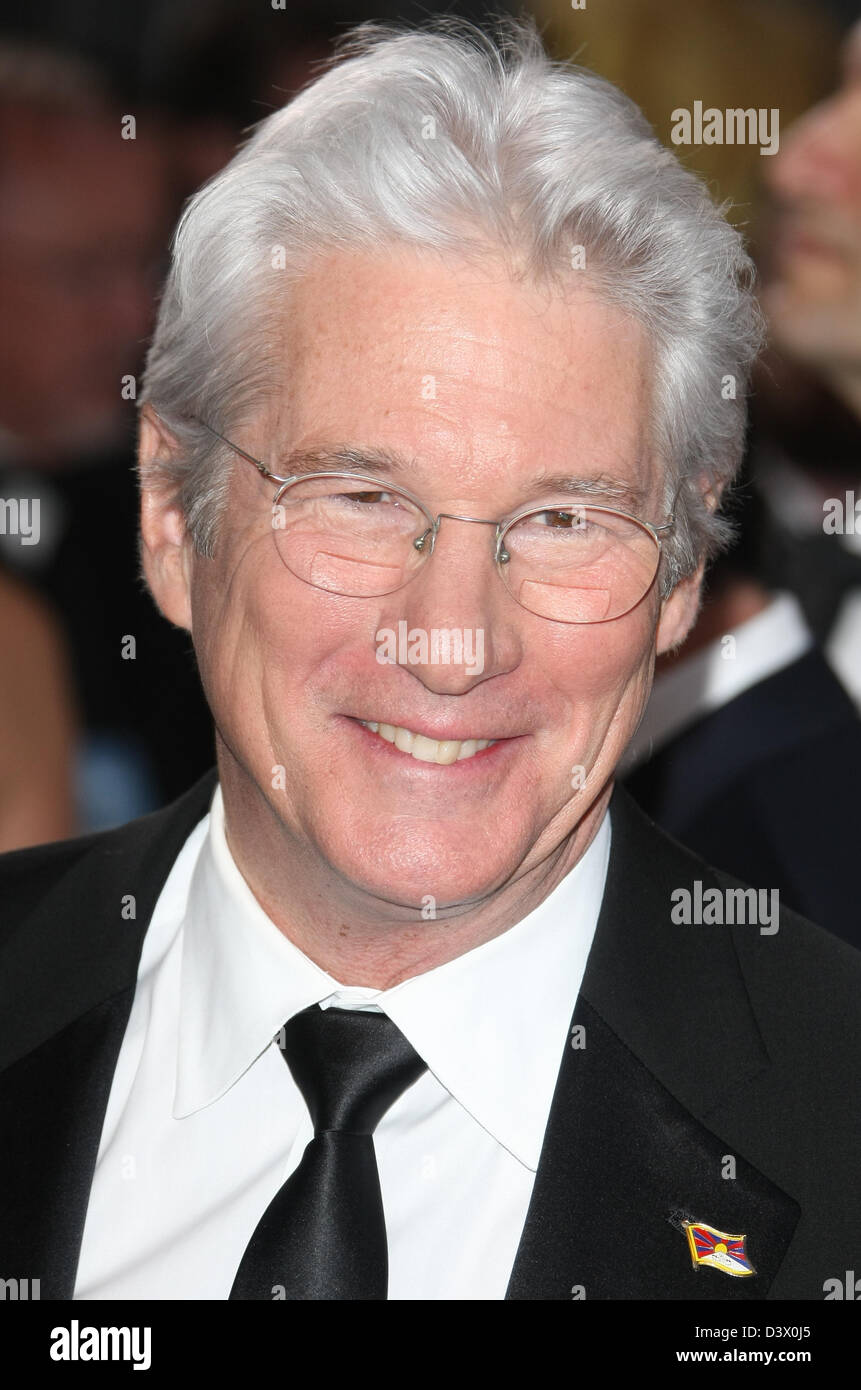
[[[140,947],[214,781],[110,834],[26,852],[46,856],[46,876],[53,856],[64,869],[0,956],[0,979],[15,981],[0,992],[0,1265],[39,1279],[43,1298],[74,1293]]]

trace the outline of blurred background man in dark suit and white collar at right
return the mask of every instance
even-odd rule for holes
[[[740,538],[691,637],[659,662],[625,766],[661,826],[861,947],[861,724],[832,669],[858,692],[861,524],[846,495],[861,478],[861,25],[843,86],[766,174],[780,217],[764,303],[784,360],[759,379]],[[842,525],[826,525],[830,492]]]

